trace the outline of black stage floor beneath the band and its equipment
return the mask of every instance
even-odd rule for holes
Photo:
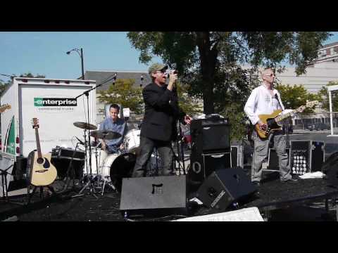
[[[54,183],[56,192],[62,183]],[[80,190],[80,187],[75,188]],[[98,189],[99,191],[99,189]],[[16,205],[0,202],[0,221],[17,217],[18,221],[125,221],[119,210],[120,193],[107,188],[104,195],[96,194],[98,199],[84,190],[85,195],[72,197],[76,193],[68,190],[56,197],[39,198],[39,193],[32,197],[30,205]],[[303,179],[298,183],[281,183],[278,173],[265,174],[259,197],[250,196],[240,203],[240,208],[258,207],[262,216],[269,221],[334,221],[336,207],[334,197],[338,188],[328,186],[326,179]],[[27,195],[11,197],[11,200],[24,204]],[[194,193],[189,194],[189,199]],[[325,198],[330,199],[325,209]],[[226,212],[227,210],[210,209],[203,205],[193,205],[189,216],[200,216]],[[328,212],[327,212],[328,211]],[[265,213],[267,216],[264,216]],[[294,218],[292,218],[294,217]],[[131,218],[134,221],[170,221],[184,218],[181,215]]]

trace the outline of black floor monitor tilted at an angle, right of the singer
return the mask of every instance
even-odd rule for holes
[[[196,193],[207,207],[224,210],[256,191],[241,167],[213,171]]]

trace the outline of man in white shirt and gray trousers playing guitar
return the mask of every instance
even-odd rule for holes
[[[275,110],[284,111],[284,105],[280,99],[280,93],[273,88],[275,81],[275,73],[268,68],[261,72],[263,83],[256,89],[253,89],[244,106],[244,112],[249,117],[253,125],[258,124],[263,130],[267,129],[258,115],[269,115]],[[251,181],[256,185],[261,185],[262,163],[268,155],[268,148],[270,141],[273,141],[273,146],[276,149],[278,162],[280,164],[280,181],[282,182],[296,182],[297,179],[291,175],[291,169],[288,166],[288,155],[285,151],[286,138],[280,131],[273,131],[268,138],[260,138],[256,131],[252,133],[253,139],[253,160],[251,164]]]

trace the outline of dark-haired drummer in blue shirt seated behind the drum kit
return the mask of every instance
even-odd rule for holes
[[[101,141],[101,148],[106,150],[108,155],[118,153],[119,150],[123,150],[123,138],[125,138],[125,134],[128,131],[127,124],[124,119],[120,119],[118,117],[118,113],[120,112],[120,106],[117,104],[112,104],[109,108],[109,114],[111,117],[107,117],[104,119],[103,122],[100,124],[99,130],[111,130],[115,133],[120,134],[119,138],[115,138],[112,140],[102,140]]]

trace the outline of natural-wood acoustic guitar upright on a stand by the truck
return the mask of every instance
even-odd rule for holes
[[[42,155],[39,140],[39,122],[37,118],[33,118],[33,129],[37,138],[37,151],[32,157],[30,167],[30,183],[33,186],[49,186],[54,182],[57,176],[56,168],[51,164],[51,153]]]

